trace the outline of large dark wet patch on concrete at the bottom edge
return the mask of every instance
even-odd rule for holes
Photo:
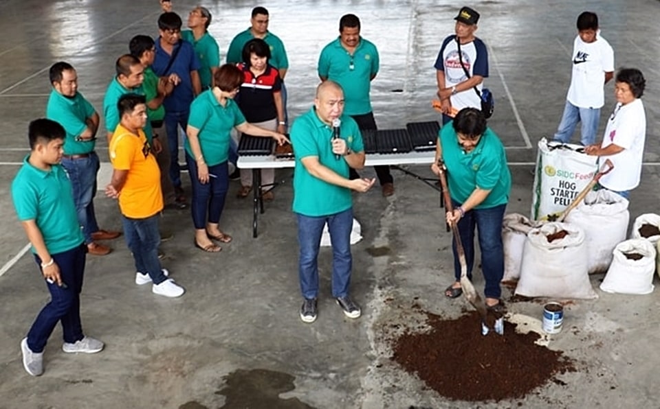
[[[279,396],[296,388],[296,377],[288,373],[267,369],[237,369],[223,379],[225,387],[216,392],[217,395],[225,396],[222,408],[313,409],[298,398],[282,399]]]

